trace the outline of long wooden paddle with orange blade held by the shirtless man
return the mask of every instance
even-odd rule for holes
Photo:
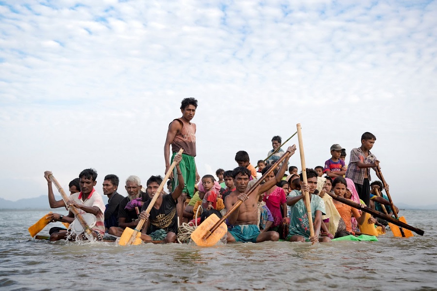
[[[291,152],[286,151],[284,155],[282,155],[279,160],[277,160],[268,170],[267,172],[252,185],[249,191],[246,193],[248,196],[252,194],[252,192],[258,187],[261,182],[271,173],[274,169],[284,161]],[[212,246],[216,244],[221,238],[227,233],[228,227],[224,223],[226,218],[231,215],[240,205],[243,203],[242,200],[238,200],[234,206],[226,212],[220,219],[217,215],[212,214],[207,219],[205,219],[200,226],[198,226],[191,233],[191,240],[196,242],[197,245],[200,246]]]

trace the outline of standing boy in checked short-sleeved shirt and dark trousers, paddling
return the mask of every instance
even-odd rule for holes
[[[351,158],[348,169],[346,171],[346,178],[353,180],[356,191],[361,200],[370,206],[370,168],[376,172],[376,167],[379,161],[376,156],[370,152],[375,144],[376,137],[370,132],[364,132],[361,136],[361,146],[351,150]],[[376,176],[379,177],[378,172]]]

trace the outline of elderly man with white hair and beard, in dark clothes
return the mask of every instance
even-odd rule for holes
[[[120,201],[118,206],[118,227],[109,228],[108,233],[120,237],[126,227],[135,228],[138,225],[139,213],[144,202],[149,200],[149,195],[141,191],[141,180],[137,176],[126,179],[128,196]]]

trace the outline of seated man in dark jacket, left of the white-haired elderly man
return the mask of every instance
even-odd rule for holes
[[[118,205],[124,196],[118,194],[119,179],[116,175],[106,175],[103,180],[103,194],[108,196],[108,204],[105,205],[105,230],[112,226],[118,226]]]

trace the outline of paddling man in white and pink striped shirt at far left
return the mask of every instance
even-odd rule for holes
[[[49,183],[49,193],[51,189],[51,181],[48,178],[51,174],[50,171],[44,172],[44,177],[47,179]],[[79,174],[79,185],[81,188],[81,192],[70,195],[67,206],[74,206],[79,211],[80,214],[84,215],[85,213],[91,213],[96,216],[96,224],[91,227],[93,230],[93,236],[97,240],[101,240],[102,236],[105,232],[104,226],[104,216],[103,212],[105,211],[105,205],[103,204],[103,200],[101,194],[97,193],[94,189],[96,186],[96,178],[97,172],[94,169],[85,169]],[[67,217],[64,216],[64,219],[75,218],[73,212],[71,210],[68,212]],[[71,226],[68,228],[67,232],[55,232],[50,235],[50,241],[59,241],[59,240],[68,240],[75,241],[76,234],[71,231]],[[86,239],[82,237],[81,239]]]

